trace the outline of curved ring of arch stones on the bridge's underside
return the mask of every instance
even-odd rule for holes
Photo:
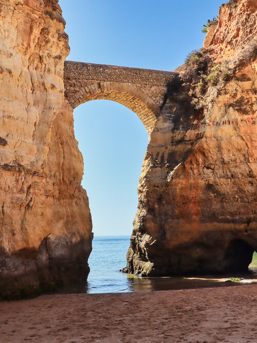
[[[133,85],[122,82],[95,82],[82,87],[74,94],[72,107],[98,99],[118,102],[136,113],[146,131],[152,132],[158,117],[159,106],[148,95]]]

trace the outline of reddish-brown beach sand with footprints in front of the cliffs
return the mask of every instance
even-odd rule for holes
[[[257,342],[257,285],[0,303],[0,342]]]

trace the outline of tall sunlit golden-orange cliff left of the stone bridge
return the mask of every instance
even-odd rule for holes
[[[57,0],[0,0],[0,295],[84,280],[91,216]]]

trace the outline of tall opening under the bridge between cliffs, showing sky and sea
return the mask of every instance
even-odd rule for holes
[[[107,282],[106,278],[119,284],[119,280],[127,278],[119,269],[126,264],[148,133],[135,113],[107,100],[89,101],[78,106],[74,110],[74,127],[84,159],[82,186],[88,194],[95,236],[88,261],[91,269],[88,285],[93,284],[97,276],[99,279],[94,287]],[[111,238],[108,237],[105,244],[104,240],[100,242],[99,236],[126,236],[127,244],[122,243],[123,260],[119,265],[114,266],[119,251],[115,245],[115,249],[112,248]],[[97,244],[104,246],[104,257],[101,256],[103,249],[98,249]],[[97,272],[93,264],[97,264]],[[119,291],[123,288],[120,287]]]

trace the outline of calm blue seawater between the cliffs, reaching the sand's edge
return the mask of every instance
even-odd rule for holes
[[[90,273],[87,282],[80,285],[71,285],[59,289],[62,293],[122,293],[122,292],[151,292],[178,290],[198,287],[231,286],[235,283],[222,282],[218,276],[201,278],[139,278],[119,270],[126,265],[126,252],[130,246],[130,236],[95,237],[93,251],[88,263]],[[233,275],[245,279],[257,279],[257,254],[254,252],[253,262],[250,265],[251,274]],[[230,276],[228,276],[230,277]]]

